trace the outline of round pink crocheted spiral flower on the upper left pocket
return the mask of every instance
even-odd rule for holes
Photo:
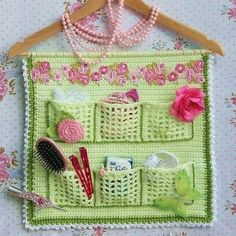
[[[84,138],[84,128],[79,121],[65,119],[57,126],[57,134],[66,143],[75,143]]]

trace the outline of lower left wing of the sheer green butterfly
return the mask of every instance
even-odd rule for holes
[[[184,200],[181,200],[176,197],[171,197],[171,196],[159,197],[154,200],[153,205],[163,211],[171,210],[175,212],[176,215],[181,217],[187,216]]]

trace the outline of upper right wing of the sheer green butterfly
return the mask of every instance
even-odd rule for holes
[[[186,170],[181,170],[176,174],[175,188],[178,195],[185,200],[196,200],[200,197],[200,193],[192,188],[191,180]]]

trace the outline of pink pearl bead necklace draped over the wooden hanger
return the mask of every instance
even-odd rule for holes
[[[158,10],[157,8],[152,7],[152,11],[148,19],[144,17],[133,27],[131,27],[131,29],[129,29],[127,32],[122,32],[120,30],[120,25],[122,13],[124,10],[124,0],[119,0],[116,17],[114,17],[112,10],[112,0],[107,0],[107,2],[108,13],[112,25],[112,32],[110,34],[104,34],[90,30],[87,27],[82,26],[79,22],[71,24],[68,13],[65,13],[62,16],[62,25],[67,41],[71,46],[73,52],[79,57],[80,61],[82,62],[87,63],[77,49],[77,44],[85,50],[99,52],[99,58],[89,62],[89,64],[98,64],[107,56],[108,52],[115,42],[121,47],[133,47],[137,43],[144,41],[148,37],[153,25],[156,22]],[[90,43],[104,45],[104,47],[102,48],[102,50],[92,48],[83,44],[81,38],[84,38],[85,40],[87,40],[87,42]]]

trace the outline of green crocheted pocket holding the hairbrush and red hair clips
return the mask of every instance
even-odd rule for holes
[[[94,206],[94,197],[88,200],[74,171],[65,171],[63,175],[49,175],[49,198],[58,206]]]

